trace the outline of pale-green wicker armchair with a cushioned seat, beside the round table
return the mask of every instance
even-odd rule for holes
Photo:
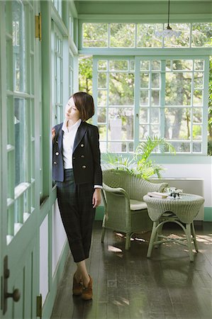
[[[166,183],[154,184],[124,171],[108,169],[103,171],[102,198],[104,220],[101,242],[104,242],[106,228],[126,234],[125,250],[130,248],[130,237],[134,233],[152,229],[152,220],[147,213],[143,196],[148,191],[163,191]]]

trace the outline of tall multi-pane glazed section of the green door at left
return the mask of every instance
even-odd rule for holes
[[[30,4],[6,2],[8,244],[35,207],[34,45],[29,36],[33,32],[29,23],[32,17]]]

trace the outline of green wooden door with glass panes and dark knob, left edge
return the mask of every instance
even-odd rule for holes
[[[39,293],[39,6],[40,1],[0,1],[0,316],[9,319],[36,318]]]

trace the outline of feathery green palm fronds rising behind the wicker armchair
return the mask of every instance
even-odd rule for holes
[[[160,172],[164,168],[150,159],[150,155],[154,150],[156,151],[158,147],[160,147],[160,152],[169,151],[175,154],[174,147],[165,141],[164,138],[157,138],[157,136],[150,138],[150,136],[148,136],[144,142],[138,145],[132,159],[123,157],[123,155],[103,154],[103,167],[105,169],[110,168],[126,171],[129,174],[143,179],[149,179],[152,175],[157,175],[157,177],[161,178]]]

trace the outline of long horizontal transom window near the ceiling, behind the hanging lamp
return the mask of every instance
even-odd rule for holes
[[[172,23],[179,38],[158,37],[166,23],[82,23],[82,47],[210,47],[212,23]]]

